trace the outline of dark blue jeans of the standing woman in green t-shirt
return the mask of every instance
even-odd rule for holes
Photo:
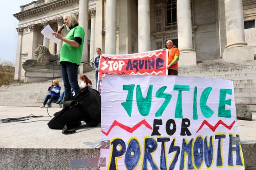
[[[64,84],[64,96],[67,99],[71,98],[71,87],[74,89],[75,93],[78,94],[80,88],[77,80],[77,70],[78,65],[76,63],[70,63],[67,61],[62,61],[61,65],[61,74]]]

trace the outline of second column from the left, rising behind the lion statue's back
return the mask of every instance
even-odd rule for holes
[[[28,29],[30,30],[30,37],[28,39],[28,59],[36,59],[35,49],[38,45],[38,29],[40,29],[40,26],[33,23],[28,25]]]

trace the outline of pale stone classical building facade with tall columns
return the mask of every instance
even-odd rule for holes
[[[162,49],[168,39],[180,49],[180,65],[256,55],[256,0],[37,0],[14,14],[15,80],[24,79],[22,63],[36,58],[38,45],[60,53],[60,45],[40,32],[48,24],[57,30],[68,13],[87,33],[80,72],[94,61],[96,47],[105,54],[130,54]]]

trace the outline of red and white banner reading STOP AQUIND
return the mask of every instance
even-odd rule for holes
[[[101,92],[102,76],[114,75],[167,75],[168,53],[164,50],[126,55],[101,55],[98,87]]]

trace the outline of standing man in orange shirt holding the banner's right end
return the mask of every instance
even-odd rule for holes
[[[173,45],[172,40],[167,40],[166,46],[168,49],[168,75],[178,76],[178,61],[180,57],[180,51]]]

